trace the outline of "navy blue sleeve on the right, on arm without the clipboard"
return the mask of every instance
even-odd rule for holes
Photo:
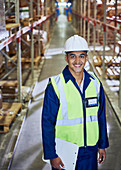
[[[105,95],[102,84],[100,86],[100,97],[99,97],[99,111],[98,111],[98,122],[99,122],[99,141],[98,147],[105,149],[109,147],[107,137],[107,125],[106,125],[106,113],[105,113]]]

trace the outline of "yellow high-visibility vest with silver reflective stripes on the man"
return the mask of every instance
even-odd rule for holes
[[[84,146],[84,121],[86,124],[86,145],[94,146],[99,139],[98,109],[100,82],[96,76],[85,90],[85,100],[73,82],[65,83],[63,74],[51,78],[52,85],[60,101],[55,126],[57,138]],[[84,111],[86,117],[84,118]]]

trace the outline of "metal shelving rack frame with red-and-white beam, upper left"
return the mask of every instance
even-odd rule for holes
[[[41,46],[40,43],[40,39],[41,39],[41,35],[40,35],[40,29],[42,28],[43,25],[47,24],[47,22],[49,20],[51,20],[51,27],[53,26],[53,22],[54,22],[54,11],[51,12],[49,15],[45,15],[47,14],[46,9],[48,6],[48,1],[42,1],[41,0],[30,0],[30,1],[26,1],[28,3],[29,9],[30,9],[30,18],[33,18],[33,6],[36,7],[37,9],[37,20],[36,21],[32,21],[31,25],[29,26],[25,26],[23,28],[21,28],[20,25],[20,13],[19,13],[19,8],[20,8],[20,0],[14,0],[14,1],[10,1],[10,0],[6,0],[6,2],[8,2],[7,6],[8,9],[6,11],[10,12],[11,9],[15,8],[15,23],[17,24],[17,32],[10,35],[8,38],[6,38],[5,40],[3,40],[0,43],[0,52],[3,54],[3,56],[5,57],[5,65],[6,65],[6,72],[7,74],[5,74],[1,80],[5,80],[14,70],[16,70],[17,68],[17,88],[18,88],[18,99],[17,101],[22,102],[22,66],[21,66],[21,55],[22,55],[22,51],[21,51],[21,42],[24,42],[27,44],[27,42],[25,42],[24,40],[22,40],[22,35],[29,33],[30,37],[31,37],[31,43],[30,43],[30,48],[31,48],[31,75],[32,75],[32,82],[34,79],[34,35],[33,35],[33,29],[37,28],[38,29],[38,46]],[[12,3],[11,3],[12,2]],[[53,5],[53,2],[50,1],[49,5],[51,4],[51,6]],[[43,5],[43,6],[42,6]],[[41,18],[41,19],[40,19]],[[11,27],[12,28],[12,27]],[[46,29],[46,26],[45,26]],[[48,28],[48,32],[50,27]],[[17,63],[8,55],[8,53],[6,52],[6,47],[11,44],[12,42],[16,42],[16,51],[17,51]],[[38,48],[38,55],[41,56],[41,48]],[[8,72],[8,61],[11,61],[12,64],[15,65],[15,67],[13,67],[9,72]]]

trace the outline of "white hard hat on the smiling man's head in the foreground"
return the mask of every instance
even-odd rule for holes
[[[87,41],[84,38],[74,35],[66,40],[64,51],[89,51],[89,48]]]

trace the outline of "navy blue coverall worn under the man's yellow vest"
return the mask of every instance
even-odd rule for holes
[[[90,83],[91,75],[86,70],[84,70],[85,79],[82,93],[75,78],[70,73],[68,66],[65,67],[62,73],[64,75],[65,82],[67,83],[69,80],[71,80],[78,89],[78,91],[80,92],[82,98],[84,98],[85,90]],[[58,109],[59,100],[53,89],[51,81],[49,81],[47,88],[45,90],[44,105],[42,111],[42,138],[44,159],[53,159],[58,157],[55,151],[55,124]],[[99,122],[99,141],[95,146],[84,146],[79,148],[76,165],[77,170],[96,170],[98,148],[105,149],[109,146],[105,116],[105,96],[102,84],[100,86],[98,122]],[[84,133],[86,134],[86,132]],[[84,140],[86,141],[86,135]]]

